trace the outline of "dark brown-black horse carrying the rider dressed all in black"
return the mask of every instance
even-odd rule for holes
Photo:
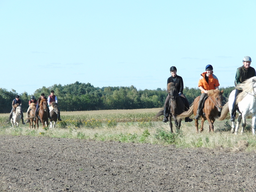
[[[168,105],[169,105],[169,111],[170,115],[168,117],[168,121],[170,122],[170,128],[171,128],[171,133],[173,133],[173,124],[171,123],[171,118],[174,119],[174,123],[176,126],[176,132],[180,130],[180,125],[182,119],[177,119],[177,115],[182,114],[182,112],[185,111],[185,102],[182,100],[182,98],[178,94],[178,90],[176,88],[176,85],[174,83],[168,83],[167,85],[168,92],[171,96]],[[163,115],[164,110],[159,111],[156,114],[156,118]]]

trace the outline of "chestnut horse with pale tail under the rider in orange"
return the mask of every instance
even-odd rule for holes
[[[223,102],[223,90],[209,90],[207,93],[207,99],[204,102],[204,108],[202,109],[201,113],[201,129],[200,132],[204,130],[204,121],[207,120],[209,122],[209,130],[208,132],[214,132],[213,123],[217,118],[218,114],[222,110],[222,102]],[[199,104],[200,96],[196,97],[193,104],[190,106],[189,111],[183,112],[182,114],[178,115],[178,119],[184,117],[190,117],[193,112],[194,116],[197,112],[197,107]],[[198,119],[195,119],[195,129],[198,133]]]

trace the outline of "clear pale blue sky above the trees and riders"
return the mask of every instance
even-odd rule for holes
[[[256,68],[255,10],[255,0],[0,0],[0,87],[163,89],[176,66],[192,88],[207,64],[234,86],[244,56]]]

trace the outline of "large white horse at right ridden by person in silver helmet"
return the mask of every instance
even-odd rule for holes
[[[237,124],[235,126],[235,122],[232,121],[232,129],[231,132],[234,133],[235,129],[235,135],[237,135],[237,131],[239,129],[239,125],[242,122],[242,130],[241,134],[244,133],[244,128],[246,126],[246,117],[252,116],[252,132],[253,135],[255,135],[255,126],[256,126],[256,77],[251,77],[244,81],[243,83],[236,86],[237,89],[242,89],[242,92],[240,92],[237,95],[236,104],[238,106],[237,112],[239,113],[237,117]],[[234,101],[235,97],[235,90],[233,90],[228,100]],[[227,117],[228,112],[230,114],[232,113],[232,104],[233,102],[227,102],[223,106],[223,111],[221,113],[220,118],[218,120],[222,121]]]

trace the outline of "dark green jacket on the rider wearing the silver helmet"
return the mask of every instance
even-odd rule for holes
[[[255,69],[253,67],[249,67],[247,71],[244,66],[237,68],[237,73],[235,74],[235,86],[253,76],[256,76]]]

